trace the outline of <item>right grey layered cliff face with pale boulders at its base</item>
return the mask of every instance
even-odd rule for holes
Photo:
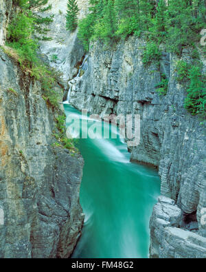
[[[141,140],[130,147],[131,160],[158,167],[165,196],[152,214],[150,256],[205,257],[205,123],[183,107],[186,92],[176,81],[176,57],[165,52],[160,69],[146,66],[144,46],[135,37],[113,49],[94,43],[87,71],[73,84],[70,103],[102,117],[140,114]],[[190,50],[183,52],[183,59],[190,61]],[[169,80],[166,96],[155,90],[161,74]]]

